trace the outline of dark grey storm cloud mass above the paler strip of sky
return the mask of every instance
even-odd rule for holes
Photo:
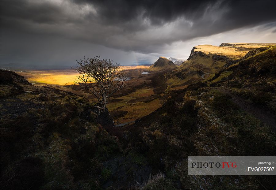
[[[33,42],[29,36],[32,34],[40,36],[41,46],[49,38],[53,41],[62,38],[80,40],[91,46],[161,53],[164,46],[177,41],[260,24],[273,28],[276,12],[275,1],[30,0],[0,3],[1,41],[6,38],[5,43],[14,43],[1,44],[1,51],[6,48],[5,54],[13,51],[13,46],[31,50]],[[28,45],[12,40],[15,35],[27,38],[27,42],[30,38]],[[59,47],[62,46],[59,44]]]

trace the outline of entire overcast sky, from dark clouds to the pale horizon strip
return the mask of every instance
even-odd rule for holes
[[[1,64],[123,65],[223,42],[276,43],[276,1],[0,1]]]

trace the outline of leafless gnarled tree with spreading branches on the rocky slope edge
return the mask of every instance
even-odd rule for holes
[[[125,70],[117,62],[101,59],[100,56],[83,58],[75,63],[77,67],[71,68],[80,74],[75,84],[94,94],[98,99],[98,106],[95,107],[99,108],[99,112],[104,111],[109,98],[126,85]]]

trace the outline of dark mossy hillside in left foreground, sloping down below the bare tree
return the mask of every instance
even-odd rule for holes
[[[0,76],[1,189],[126,189],[150,177],[108,111],[10,71]]]

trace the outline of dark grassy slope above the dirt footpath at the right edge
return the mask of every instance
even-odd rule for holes
[[[275,111],[275,57],[276,46],[260,48],[259,53],[209,76],[207,82],[212,86],[229,88],[236,95]]]

